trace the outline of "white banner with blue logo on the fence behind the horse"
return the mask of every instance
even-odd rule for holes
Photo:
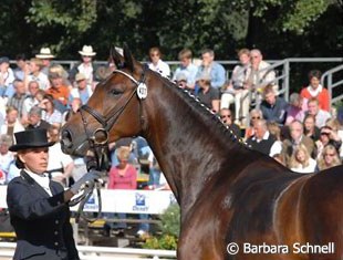
[[[7,208],[7,186],[0,186],[0,208]],[[170,190],[118,190],[102,189],[103,212],[126,212],[126,214],[162,214],[176,199]],[[77,210],[79,205],[71,208]],[[97,211],[98,199],[96,191],[85,204],[85,211]]]

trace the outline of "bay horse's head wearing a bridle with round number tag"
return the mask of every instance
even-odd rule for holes
[[[124,56],[114,48],[111,56],[118,70],[96,85],[87,104],[63,126],[64,153],[84,156],[87,150],[96,150],[142,131],[141,100],[147,91],[145,67],[134,60],[126,45]]]

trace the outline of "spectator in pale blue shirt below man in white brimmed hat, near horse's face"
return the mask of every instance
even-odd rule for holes
[[[69,104],[73,102],[74,98],[80,98],[82,105],[86,104],[93,94],[92,86],[87,84],[86,77],[82,73],[75,75],[75,85],[70,95]]]

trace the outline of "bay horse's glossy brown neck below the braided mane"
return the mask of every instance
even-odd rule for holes
[[[177,96],[183,93],[160,94],[146,110],[145,137],[178,202],[190,207],[211,176],[222,167],[232,147],[226,144],[230,142],[227,135],[219,134],[218,127],[222,132],[225,127],[206,108],[194,107],[197,104]]]

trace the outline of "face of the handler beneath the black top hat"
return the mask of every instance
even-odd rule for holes
[[[32,173],[43,174],[48,168],[48,147],[23,149],[18,156]]]

